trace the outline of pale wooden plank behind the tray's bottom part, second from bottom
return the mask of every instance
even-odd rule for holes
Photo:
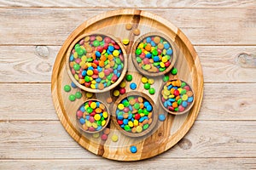
[[[0,127],[0,159],[96,158],[73,141],[60,122],[0,122]],[[255,121],[197,121],[158,158],[255,158],[255,128]]]

